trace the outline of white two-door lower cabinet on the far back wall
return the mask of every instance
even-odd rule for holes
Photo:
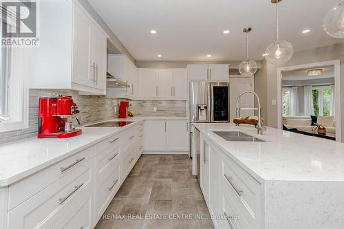
[[[144,151],[184,153],[188,150],[187,120],[144,121]]]

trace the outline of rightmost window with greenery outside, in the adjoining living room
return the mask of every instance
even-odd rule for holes
[[[312,89],[314,115],[330,116],[332,109],[331,87],[314,87]]]

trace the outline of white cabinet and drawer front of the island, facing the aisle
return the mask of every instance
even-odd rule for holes
[[[215,228],[261,228],[261,184],[202,133],[200,186]]]

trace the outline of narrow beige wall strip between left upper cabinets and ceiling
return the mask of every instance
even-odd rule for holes
[[[127,48],[120,42],[118,37],[114,34],[114,32],[111,31],[109,26],[107,26],[107,23],[103,21],[103,19],[99,16],[99,14],[94,10],[94,8],[91,6],[91,4],[87,0],[78,0],[78,2],[83,5],[83,7],[91,14],[91,16],[96,20],[96,22],[100,25],[101,28],[109,35],[109,41],[114,45],[116,50],[120,52],[121,54],[125,54],[129,57],[129,59],[136,64],[136,60],[131,56],[130,52],[127,50]]]

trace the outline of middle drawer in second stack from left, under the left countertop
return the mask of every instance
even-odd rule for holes
[[[96,156],[96,180],[103,182],[107,175],[114,171],[115,165],[120,163],[120,144],[110,146]]]

